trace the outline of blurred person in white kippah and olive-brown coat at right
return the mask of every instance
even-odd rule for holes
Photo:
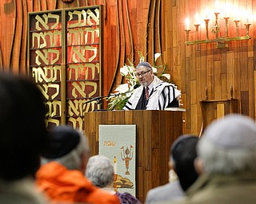
[[[255,203],[255,161],[254,120],[234,114],[214,121],[198,142],[195,166],[202,175],[177,203]]]

